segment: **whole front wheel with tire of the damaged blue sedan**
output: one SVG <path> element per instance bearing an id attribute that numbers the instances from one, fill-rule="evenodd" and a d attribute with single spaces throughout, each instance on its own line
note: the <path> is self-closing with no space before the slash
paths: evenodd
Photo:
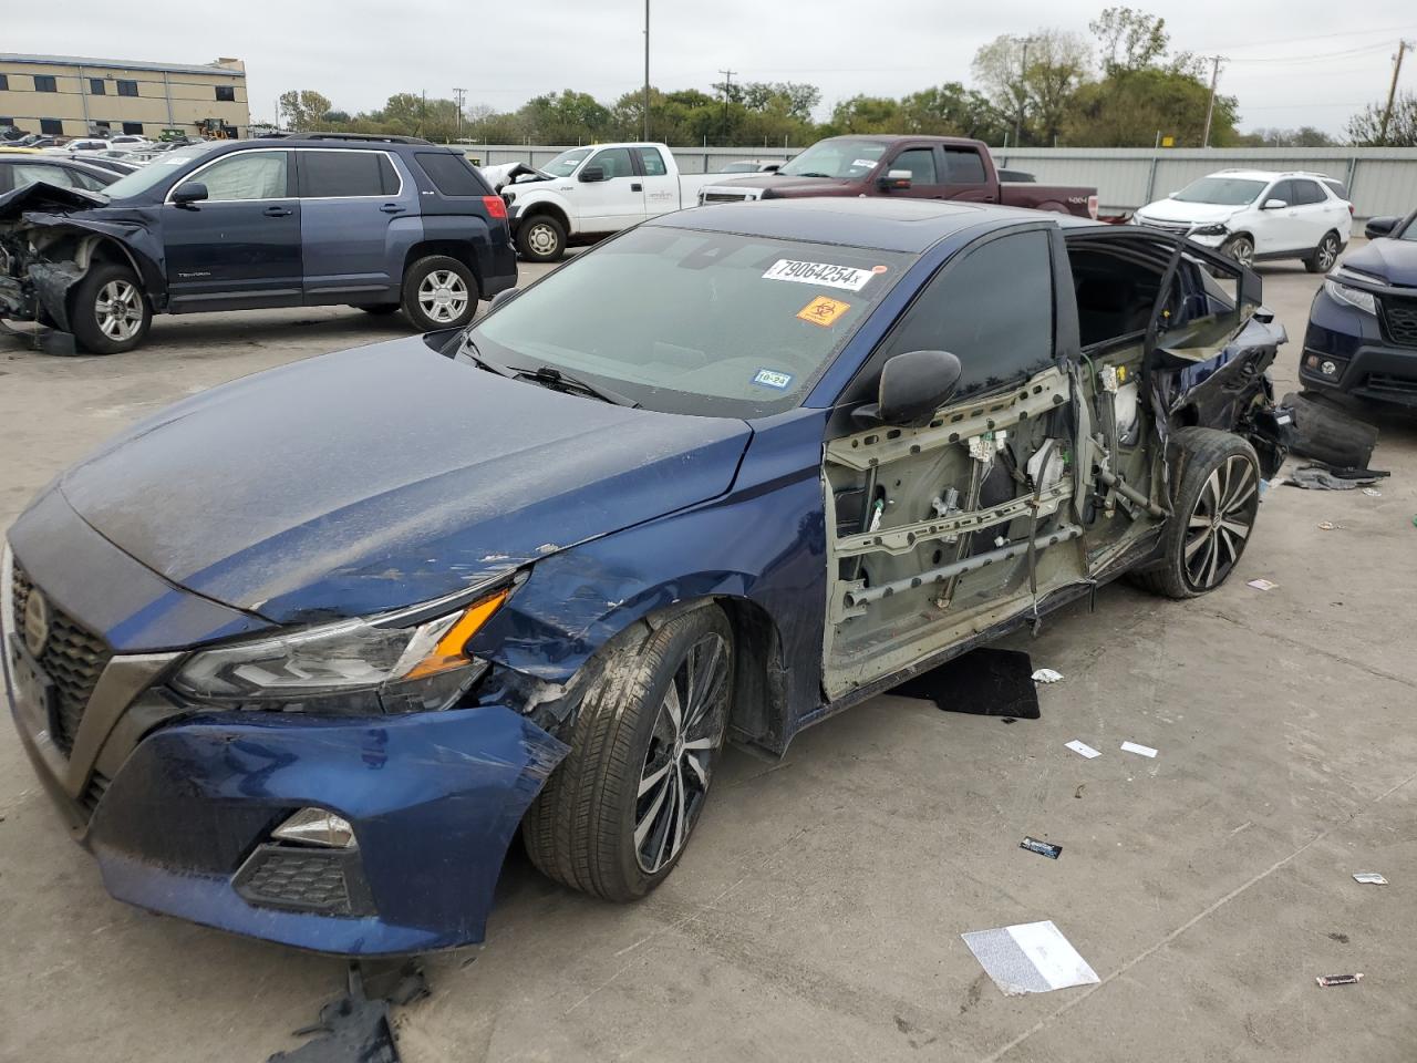
<path id="1" fill-rule="evenodd" d="M 717 605 L 612 651 L 581 702 L 571 751 L 523 821 L 531 862 L 611 901 L 638 900 L 663 882 L 707 799 L 733 679 L 733 629 Z"/>

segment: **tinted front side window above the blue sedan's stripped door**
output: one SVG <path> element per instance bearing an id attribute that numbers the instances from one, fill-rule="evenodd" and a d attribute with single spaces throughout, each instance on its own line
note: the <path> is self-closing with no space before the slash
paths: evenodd
<path id="1" fill-rule="evenodd" d="M 1053 262 L 1047 232 L 989 240 L 941 269 L 896 323 L 877 360 L 948 350 L 959 397 L 1024 380 L 1053 361 Z"/>

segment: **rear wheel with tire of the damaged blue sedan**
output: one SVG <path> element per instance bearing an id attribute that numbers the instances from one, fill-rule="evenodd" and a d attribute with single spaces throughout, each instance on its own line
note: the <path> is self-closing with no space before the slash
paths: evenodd
<path id="1" fill-rule="evenodd" d="M 1180 476 L 1161 557 L 1134 583 L 1168 598 L 1196 598 L 1226 581 L 1254 533 L 1260 459 L 1234 432 L 1182 428 L 1175 439 Z"/>

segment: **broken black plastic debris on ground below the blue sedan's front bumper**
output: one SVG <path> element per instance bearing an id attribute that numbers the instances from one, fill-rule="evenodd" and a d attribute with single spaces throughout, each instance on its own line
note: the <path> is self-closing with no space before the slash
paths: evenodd
<path id="1" fill-rule="evenodd" d="M 295 1032 L 298 1037 L 323 1036 L 290 1052 L 276 1052 L 266 1063 L 400 1063 L 390 1005 L 427 996 L 428 982 L 412 961 L 395 971 L 371 975 L 370 982 L 376 989 L 388 984 L 388 989 L 370 996 L 359 962 L 351 962 L 349 992 L 320 1008 L 320 1019 L 313 1026 Z"/>

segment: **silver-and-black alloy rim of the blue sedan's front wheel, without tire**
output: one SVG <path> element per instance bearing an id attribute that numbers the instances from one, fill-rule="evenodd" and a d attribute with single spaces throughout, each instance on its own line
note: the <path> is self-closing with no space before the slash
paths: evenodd
<path id="1" fill-rule="evenodd" d="M 646 874 L 684 848 L 708 792 L 728 704 L 728 648 L 706 635 L 674 670 L 650 734 L 635 801 L 635 859 Z"/>

